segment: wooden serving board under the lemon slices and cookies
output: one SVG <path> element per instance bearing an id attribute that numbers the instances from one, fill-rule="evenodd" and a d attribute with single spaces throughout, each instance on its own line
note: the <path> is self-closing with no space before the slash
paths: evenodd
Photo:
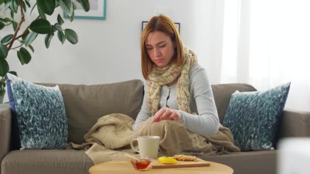
<path id="1" fill-rule="evenodd" d="M 174 167 L 201 167 L 210 166 L 210 162 L 197 158 L 196 161 L 177 161 L 176 164 L 163 164 L 157 159 L 152 161 L 152 168 L 174 168 Z"/>

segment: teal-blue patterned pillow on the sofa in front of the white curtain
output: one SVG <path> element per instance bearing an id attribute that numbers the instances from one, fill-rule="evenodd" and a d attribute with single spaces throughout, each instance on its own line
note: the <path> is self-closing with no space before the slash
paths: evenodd
<path id="1" fill-rule="evenodd" d="M 264 92 L 236 91 L 223 120 L 241 151 L 272 150 L 291 82 Z"/>

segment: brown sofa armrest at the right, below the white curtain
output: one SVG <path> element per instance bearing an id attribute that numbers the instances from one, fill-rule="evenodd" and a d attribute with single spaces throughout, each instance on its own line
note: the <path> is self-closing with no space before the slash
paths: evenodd
<path id="1" fill-rule="evenodd" d="M 280 138 L 310 137 L 310 111 L 285 110 L 279 130 Z"/>

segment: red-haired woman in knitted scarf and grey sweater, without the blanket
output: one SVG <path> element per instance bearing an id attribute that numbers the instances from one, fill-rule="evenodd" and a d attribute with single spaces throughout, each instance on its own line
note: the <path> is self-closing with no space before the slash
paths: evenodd
<path id="1" fill-rule="evenodd" d="M 146 93 L 133 130 L 153 117 L 153 122 L 179 122 L 198 135 L 217 133 L 219 118 L 208 76 L 168 17 L 154 16 L 145 26 L 141 65 Z"/>

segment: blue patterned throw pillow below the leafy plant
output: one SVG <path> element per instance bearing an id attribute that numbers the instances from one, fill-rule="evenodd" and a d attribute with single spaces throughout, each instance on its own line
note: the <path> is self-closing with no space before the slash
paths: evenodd
<path id="1" fill-rule="evenodd" d="M 7 88 L 21 149 L 64 149 L 68 123 L 58 85 L 36 85 L 8 73 Z"/>

